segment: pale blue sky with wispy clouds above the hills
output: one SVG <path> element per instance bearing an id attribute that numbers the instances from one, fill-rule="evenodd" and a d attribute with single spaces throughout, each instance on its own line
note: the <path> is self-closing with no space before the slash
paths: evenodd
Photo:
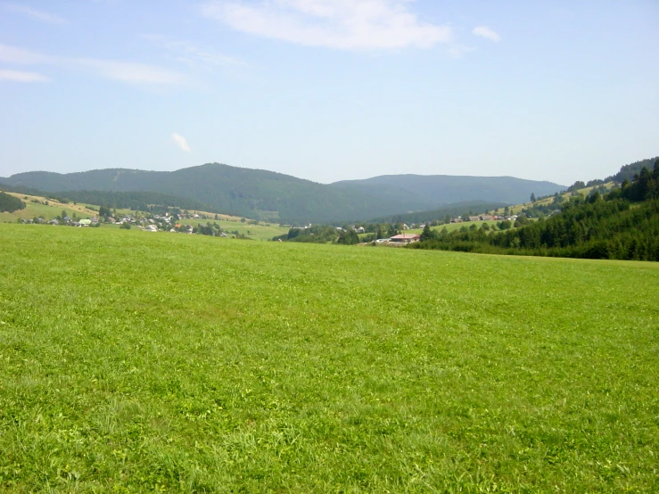
<path id="1" fill-rule="evenodd" d="M 571 185 L 659 155 L 656 0 L 0 0 L 0 177 Z"/>

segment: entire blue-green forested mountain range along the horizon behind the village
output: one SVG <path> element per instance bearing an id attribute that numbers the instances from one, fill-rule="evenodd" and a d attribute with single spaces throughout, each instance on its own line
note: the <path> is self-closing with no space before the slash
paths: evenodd
<path id="1" fill-rule="evenodd" d="M 219 163 L 169 172 L 96 169 L 60 174 L 31 171 L 0 177 L 0 184 L 70 199 L 75 199 L 80 191 L 168 194 L 194 200 L 210 211 L 284 223 L 370 219 L 433 210 L 454 202 L 515 204 L 528 201 L 531 193 L 541 196 L 566 188 L 515 177 L 446 175 L 388 175 L 325 185 L 268 170 Z"/>

